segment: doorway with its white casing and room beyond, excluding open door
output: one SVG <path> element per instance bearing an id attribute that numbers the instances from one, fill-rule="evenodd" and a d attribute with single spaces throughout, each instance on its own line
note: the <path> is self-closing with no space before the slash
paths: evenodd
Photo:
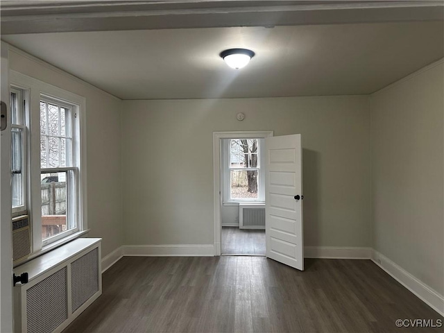
<path id="1" fill-rule="evenodd" d="M 216 132 L 214 254 L 266 255 L 264 138 L 273 131 Z"/>

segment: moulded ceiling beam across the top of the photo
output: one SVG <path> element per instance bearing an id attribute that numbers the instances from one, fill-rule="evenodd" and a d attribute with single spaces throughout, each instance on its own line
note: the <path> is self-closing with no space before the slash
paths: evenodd
<path id="1" fill-rule="evenodd" d="M 443 1 L 1 1 L 1 35 L 444 20 Z"/>

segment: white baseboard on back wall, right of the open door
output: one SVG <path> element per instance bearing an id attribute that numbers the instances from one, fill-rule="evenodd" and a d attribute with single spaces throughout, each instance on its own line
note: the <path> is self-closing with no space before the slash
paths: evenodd
<path id="1" fill-rule="evenodd" d="M 371 248 L 345 248 L 339 246 L 305 246 L 305 258 L 370 259 Z"/>

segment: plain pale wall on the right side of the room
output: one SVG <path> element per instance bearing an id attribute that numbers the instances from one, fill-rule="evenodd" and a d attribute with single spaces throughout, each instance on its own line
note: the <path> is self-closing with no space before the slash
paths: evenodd
<path id="1" fill-rule="evenodd" d="M 443 62 L 371 96 L 373 247 L 444 294 Z"/>

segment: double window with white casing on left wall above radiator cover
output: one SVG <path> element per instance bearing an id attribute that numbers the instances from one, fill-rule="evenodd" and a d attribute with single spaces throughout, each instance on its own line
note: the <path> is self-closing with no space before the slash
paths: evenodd
<path id="1" fill-rule="evenodd" d="M 16 71 L 10 77 L 12 212 L 31 221 L 33 257 L 87 228 L 85 99 Z"/>

